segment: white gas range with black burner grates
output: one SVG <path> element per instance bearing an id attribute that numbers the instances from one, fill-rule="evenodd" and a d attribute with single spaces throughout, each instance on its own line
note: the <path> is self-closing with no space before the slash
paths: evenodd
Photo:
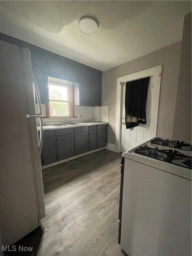
<path id="1" fill-rule="evenodd" d="M 122 154 L 119 243 L 129 256 L 191 255 L 191 173 L 189 143 L 153 138 Z"/>

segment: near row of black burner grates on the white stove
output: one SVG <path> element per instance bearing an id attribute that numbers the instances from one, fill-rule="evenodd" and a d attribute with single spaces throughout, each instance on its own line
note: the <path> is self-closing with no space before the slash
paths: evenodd
<path id="1" fill-rule="evenodd" d="M 145 144 L 135 149 L 134 153 L 191 169 L 191 156 L 176 150 L 173 152 L 172 149 L 150 148 Z"/>

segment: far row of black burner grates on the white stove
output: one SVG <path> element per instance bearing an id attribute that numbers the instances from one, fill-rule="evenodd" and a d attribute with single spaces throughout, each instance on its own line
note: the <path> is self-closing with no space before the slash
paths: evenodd
<path id="1" fill-rule="evenodd" d="M 151 143 L 156 145 L 162 145 L 162 146 L 172 147 L 172 148 L 180 148 L 180 149 L 191 151 L 191 144 L 185 141 L 181 141 L 181 142 L 179 140 L 170 141 L 169 139 L 164 140 L 158 137 L 151 140 Z"/>

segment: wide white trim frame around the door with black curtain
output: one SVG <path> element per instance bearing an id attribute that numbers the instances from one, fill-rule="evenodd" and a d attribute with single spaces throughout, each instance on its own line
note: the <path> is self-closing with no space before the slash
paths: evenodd
<path id="1" fill-rule="evenodd" d="M 161 84 L 162 65 L 145 69 L 136 73 L 117 78 L 117 98 L 116 98 L 116 129 L 115 129 L 115 151 L 121 150 L 121 106 L 122 106 L 122 83 L 136 80 L 148 76 L 153 76 L 153 90 L 151 95 L 151 123 L 149 137 L 153 138 L 157 133 L 157 120 L 159 109 L 159 96 Z"/>

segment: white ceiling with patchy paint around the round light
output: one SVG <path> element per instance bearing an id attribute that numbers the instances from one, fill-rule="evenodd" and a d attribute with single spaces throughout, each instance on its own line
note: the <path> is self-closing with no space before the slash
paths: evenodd
<path id="1" fill-rule="evenodd" d="M 0 32 L 99 70 L 182 40 L 191 1 L 0 1 Z M 82 16 L 99 22 L 94 34 Z"/>

